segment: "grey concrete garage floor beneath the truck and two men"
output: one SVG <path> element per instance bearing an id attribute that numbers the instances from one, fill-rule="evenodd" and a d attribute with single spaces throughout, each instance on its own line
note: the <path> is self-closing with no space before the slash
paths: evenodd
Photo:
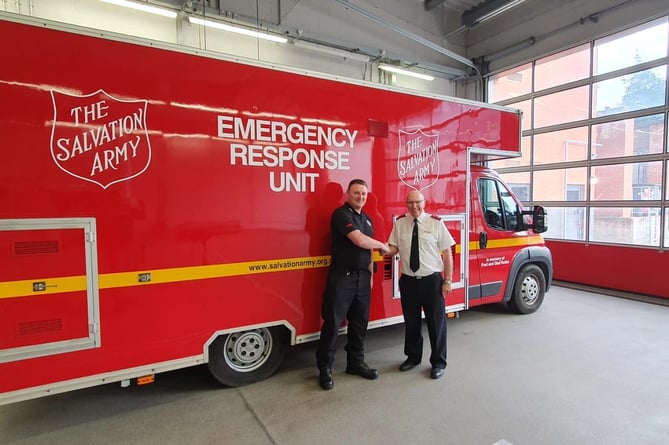
<path id="1" fill-rule="evenodd" d="M 197 367 L 0 406 L 0 443 L 669 443 L 669 307 L 554 286 L 532 315 L 471 310 L 449 321 L 441 380 L 426 359 L 400 373 L 402 341 L 403 325 L 369 332 L 375 381 L 345 374 L 340 348 L 331 391 L 310 343 L 247 387 Z"/>

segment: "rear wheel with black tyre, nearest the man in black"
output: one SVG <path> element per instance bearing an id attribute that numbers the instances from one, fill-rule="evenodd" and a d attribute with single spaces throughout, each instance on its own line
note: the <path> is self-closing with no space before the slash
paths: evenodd
<path id="1" fill-rule="evenodd" d="M 259 382 L 279 368 L 286 344 L 280 326 L 222 335 L 209 346 L 209 372 L 225 386 Z"/>

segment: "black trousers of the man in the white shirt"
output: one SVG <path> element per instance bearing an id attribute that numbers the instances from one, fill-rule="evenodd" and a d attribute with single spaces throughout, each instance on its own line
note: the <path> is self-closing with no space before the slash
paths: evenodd
<path id="1" fill-rule="evenodd" d="M 441 286 L 444 277 L 435 273 L 421 279 L 402 275 L 400 297 L 404 315 L 404 353 L 414 363 L 423 358 L 421 309 L 430 337 L 430 363 L 435 368 L 446 367 L 446 311 Z"/>

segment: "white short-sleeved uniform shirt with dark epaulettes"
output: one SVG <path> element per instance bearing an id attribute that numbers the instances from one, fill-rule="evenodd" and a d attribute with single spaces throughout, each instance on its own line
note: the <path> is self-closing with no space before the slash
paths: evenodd
<path id="1" fill-rule="evenodd" d="M 450 249 L 455 240 L 446 230 L 441 220 L 423 213 L 418 217 L 418 252 L 420 268 L 414 273 L 409 268 L 411 257 L 411 235 L 413 232 L 413 217 L 404 215 L 393 224 L 388 244 L 399 249 L 400 265 L 403 275 L 424 277 L 444 270 L 441 252 Z"/>

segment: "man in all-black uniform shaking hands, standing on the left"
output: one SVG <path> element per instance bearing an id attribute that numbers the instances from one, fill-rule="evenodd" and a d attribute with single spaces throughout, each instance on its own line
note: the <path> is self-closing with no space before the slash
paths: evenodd
<path id="1" fill-rule="evenodd" d="M 336 352 L 337 333 L 344 318 L 348 320 L 346 372 L 373 380 L 379 371 L 364 361 L 364 341 L 369 321 L 369 300 L 372 291 L 372 252 L 389 251 L 387 244 L 377 241 L 372 220 L 362 211 L 367 201 L 367 184 L 354 179 L 346 190 L 346 202 L 332 213 L 332 264 L 323 294 L 321 316 L 323 327 L 316 350 L 319 384 L 332 389 L 332 363 Z"/>

